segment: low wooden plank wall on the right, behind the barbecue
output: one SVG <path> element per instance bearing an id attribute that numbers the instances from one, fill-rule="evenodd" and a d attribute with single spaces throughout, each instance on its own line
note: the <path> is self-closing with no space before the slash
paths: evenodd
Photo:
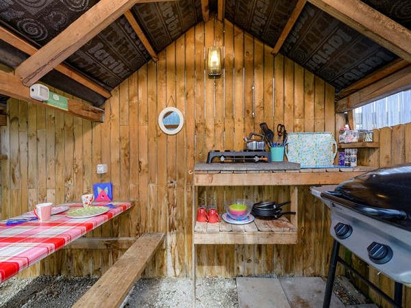
<path id="1" fill-rule="evenodd" d="M 374 129 L 374 141 L 379 141 L 379 149 L 359 149 L 358 163 L 362 166 L 386 167 L 395 164 L 411 162 L 411 123 L 400 124 L 393 127 L 383 127 Z M 394 282 L 384 274 L 379 274 L 377 270 L 367 267 L 364 262 L 355 255 L 346 254 L 347 260 L 351 261 L 354 268 L 369 277 L 370 281 L 380 287 L 390 296 L 394 296 Z M 379 307 L 391 307 L 382 300 L 373 290 L 361 283 L 359 279 L 353 277 L 356 285 L 364 294 L 369 297 Z M 403 307 L 411 307 L 411 288 L 404 287 Z"/>

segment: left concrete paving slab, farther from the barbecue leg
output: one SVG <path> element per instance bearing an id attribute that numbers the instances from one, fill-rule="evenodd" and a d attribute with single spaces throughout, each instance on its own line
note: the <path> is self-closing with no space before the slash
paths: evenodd
<path id="1" fill-rule="evenodd" d="M 237 277 L 236 282 L 240 308 L 291 307 L 276 278 Z"/>

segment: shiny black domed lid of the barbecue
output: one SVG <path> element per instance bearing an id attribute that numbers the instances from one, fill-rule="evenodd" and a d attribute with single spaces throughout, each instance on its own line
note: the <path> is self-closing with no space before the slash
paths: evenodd
<path id="1" fill-rule="evenodd" d="M 399 209 L 411 214 L 411 164 L 379 168 L 340 183 L 335 188 L 354 203 Z"/>

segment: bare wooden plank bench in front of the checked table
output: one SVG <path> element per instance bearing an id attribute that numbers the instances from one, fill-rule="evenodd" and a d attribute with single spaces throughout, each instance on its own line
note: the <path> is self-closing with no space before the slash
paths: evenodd
<path id="1" fill-rule="evenodd" d="M 144 233 L 73 307 L 119 307 L 164 241 L 164 233 Z"/>

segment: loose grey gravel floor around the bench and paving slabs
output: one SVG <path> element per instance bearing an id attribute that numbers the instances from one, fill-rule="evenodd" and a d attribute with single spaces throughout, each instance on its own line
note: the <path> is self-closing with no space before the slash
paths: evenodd
<path id="1" fill-rule="evenodd" d="M 97 279 L 13 277 L 0 284 L 0 307 L 69 308 Z M 345 305 L 358 305 L 355 294 L 350 294 L 338 279 L 334 283 L 334 293 Z M 122 305 L 126 307 L 192 307 L 191 279 L 140 279 L 127 295 Z M 238 307 L 236 279 L 197 279 L 197 307 Z"/>

